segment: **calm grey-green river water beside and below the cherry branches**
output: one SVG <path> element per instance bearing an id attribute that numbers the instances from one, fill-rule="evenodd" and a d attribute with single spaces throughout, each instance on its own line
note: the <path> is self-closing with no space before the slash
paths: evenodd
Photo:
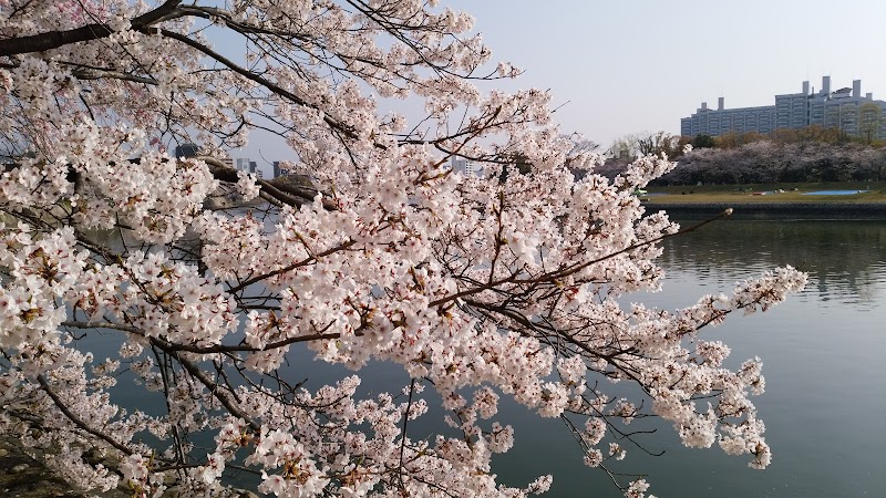
<path id="1" fill-rule="evenodd" d="M 705 332 L 732 347 L 728 366 L 763 360 L 766 392 L 754 403 L 773 460 L 753 470 L 715 447 L 682 448 L 659 421 L 642 440 L 664 456 L 629 447 L 617 469 L 648 473 L 649 492 L 660 498 L 886 496 L 886 222 L 727 220 L 664 248 L 662 292 L 635 301 L 672 309 L 775 266 L 808 272 L 806 289 L 787 302 Z M 559 424 L 519 418 L 503 478 L 553 473 L 553 496 L 621 496 L 581 466 Z"/>

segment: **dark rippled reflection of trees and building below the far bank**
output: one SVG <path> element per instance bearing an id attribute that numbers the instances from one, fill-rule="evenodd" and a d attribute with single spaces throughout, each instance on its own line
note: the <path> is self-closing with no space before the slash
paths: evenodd
<path id="1" fill-rule="evenodd" d="M 690 226 L 691 222 L 683 224 Z M 800 299 L 869 311 L 886 281 L 886 222 L 727 220 L 664 241 L 660 263 L 698 280 L 743 280 L 792 264 L 810 274 Z"/>

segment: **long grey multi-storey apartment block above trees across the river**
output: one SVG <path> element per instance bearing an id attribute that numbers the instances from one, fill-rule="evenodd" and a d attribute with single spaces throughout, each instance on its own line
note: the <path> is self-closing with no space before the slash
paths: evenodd
<path id="1" fill-rule="evenodd" d="M 864 104 L 879 107 L 874 114 L 864 112 Z M 870 108 L 868 106 L 868 108 Z M 775 95 L 775 105 L 759 107 L 725 108 L 723 97 L 718 100 L 717 108 L 709 108 L 707 102 L 689 117 L 680 120 L 680 134 L 683 136 L 720 136 L 728 133 L 771 133 L 783 128 L 804 128 L 818 125 L 838 128 L 847 135 L 858 136 L 865 128 L 873 131 L 874 137 L 886 138 L 886 102 L 875 101 L 873 94 L 862 95 L 862 80 L 853 81 L 852 87 L 831 90 L 831 76 L 822 77 L 822 90 L 810 91 L 810 82 L 804 81 L 800 93 Z"/>

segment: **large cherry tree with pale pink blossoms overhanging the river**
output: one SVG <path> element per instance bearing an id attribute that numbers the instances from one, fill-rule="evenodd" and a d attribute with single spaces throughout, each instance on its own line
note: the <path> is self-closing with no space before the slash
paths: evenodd
<path id="1" fill-rule="evenodd" d="M 560 417 L 602 471 L 647 412 L 687 446 L 769 464 L 750 400 L 761 362 L 725 369 L 729 347 L 700 333 L 805 277 L 774 270 L 676 311 L 628 304 L 660 287 L 657 242 L 679 230 L 631 193 L 672 164 L 641 157 L 608 180 L 546 92 L 481 91 L 519 70 L 492 65 L 467 14 L 0 0 L 0 427 L 72 484 L 215 496 L 236 470 L 285 497 L 543 492 L 549 476 L 496 481 L 517 436 L 503 396 Z M 424 114 L 381 111 L 393 98 Z M 251 132 L 285 139 L 317 188 L 226 167 Z M 183 142 L 203 155 L 161 146 Z M 517 156 L 530 169 L 503 175 Z M 261 201 L 210 208 L 231 193 Z M 298 382 L 282 372 L 303 351 L 353 372 Z M 370 363 L 402 384 L 361 392 Z M 121 406 L 133 390 L 144 403 Z M 415 429 L 439 411 L 437 434 Z M 614 479 L 631 497 L 649 486 Z"/>

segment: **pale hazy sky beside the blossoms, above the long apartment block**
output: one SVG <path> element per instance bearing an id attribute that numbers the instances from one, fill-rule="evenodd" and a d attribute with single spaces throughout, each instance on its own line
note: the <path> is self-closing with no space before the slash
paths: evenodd
<path id="1" fill-rule="evenodd" d="M 820 90 L 823 75 L 832 90 L 862 80 L 863 93 L 886 100 L 883 0 L 440 3 L 474 17 L 493 64 L 525 70 L 506 89 L 549 90 L 562 131 L 604 148 L 629 134 L 679 134 L 701 102 L 773 105 L 803 81 Z M 257 157 L 259 147 L 245 152 Z"/>

